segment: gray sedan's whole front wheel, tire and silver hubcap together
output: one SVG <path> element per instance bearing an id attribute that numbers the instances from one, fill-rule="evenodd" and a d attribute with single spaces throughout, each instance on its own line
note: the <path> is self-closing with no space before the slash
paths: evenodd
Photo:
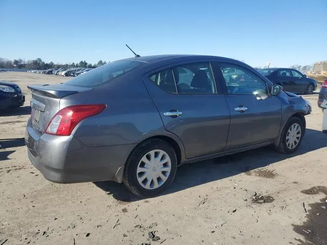
<path id="1" fill-rule="evenodd" d="M 277 151 L 286 154 L 296 152 L 301 144 L 305 130 L 303 122 L 299 118 L 291 117 L 282 132 Z"/>

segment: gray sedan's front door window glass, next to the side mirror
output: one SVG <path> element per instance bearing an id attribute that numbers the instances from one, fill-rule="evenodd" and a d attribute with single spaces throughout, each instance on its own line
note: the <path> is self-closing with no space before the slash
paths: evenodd
<path id="1" fill-rule="evenodd" d="M 228 94 L 269 94 L 264 80 L 234 64 L 220 65 Z"/>

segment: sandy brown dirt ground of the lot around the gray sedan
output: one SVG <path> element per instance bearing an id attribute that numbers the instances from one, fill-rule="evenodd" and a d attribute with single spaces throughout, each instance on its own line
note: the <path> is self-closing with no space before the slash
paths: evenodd
<path id="1" fill-rule="evenodd" d="M 4 139 L 24 137 L 26 85 L 67 78 L 3 72 L 0 80 L 17 83 L 27 100 L 0 114 Z M 184 165 L 153 199 L 113 182 L 51 183 L 30 164 L 24 140 L 2 140 L 0 244 L 327 244 L 327 135 L 317 94 L 305 97 L 313 112 L 296 154 L 264 148 Z"/>

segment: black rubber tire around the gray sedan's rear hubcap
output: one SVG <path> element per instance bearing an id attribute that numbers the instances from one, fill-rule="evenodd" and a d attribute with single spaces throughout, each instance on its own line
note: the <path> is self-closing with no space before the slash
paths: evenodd
<path id="1" fill-rule="evenodd" d="M 156 154 L 157 157 L 159 156 L 158 155 L 159 151 L 161 151 L 161 153 L 164 152 L 166 154 L 164 155 L 166 157 L 166 160 L 168 160 L 167 163 L 165 163 L 162 166 L 159 166 L 158 162 L 154 163 L 156 164 L 155 166 L 148 165 L 145 163 L 145 161 L 151 163 L 151 159 L 157 159 L 155 156 Z M 151 155 L 151 153 L 153 152 L 154 155 Z M 164 155 L 162 157 L 164 157 Z M 143 161 L 143 159 L 145 161 Z M 160 171 L 160 169 L 162 168 L 168 169 L 169 167 L 170 167 L 170 173 L 169 171 Z M 137 169 L 149 169 L 149 170 L 145 172 L 140 171 L 137 174 Z M 132 151 L 132 153 L 128 157 L 124 169 L 123 183 L 125 184 L 127 189 L 129 189 L 132 193 L 134 193 L 138 197 L 141 198 L 155 197 L 156 195 L 165 191 L 168 188 L 168 186 L 173 182 L 176 175 L 176 170 L 177 170 L 177 157 L 172 146 L 164 140 L 150 139 L 136 146 L 136 148 Z M 160 178 L 159 177 L 160 173 L 161 176 L 165 178 L 168 177 L 168 178 L 166 180 L 164 180 L 165 178 Z M 147 174 L 148 176 L 150 175 L 150 178 L 144 178 L 144 176 L 146 176 Z M 151 178 L 151 175 L 155 175 L 156 176 L 154 177 L 155 179 Z M 144 179 L 143 182 L 142 179 Z M 156 183 L 154 180 L 156 180 Z M 158 187 L 155 187 L 155 184 L 157 184 Z"/>

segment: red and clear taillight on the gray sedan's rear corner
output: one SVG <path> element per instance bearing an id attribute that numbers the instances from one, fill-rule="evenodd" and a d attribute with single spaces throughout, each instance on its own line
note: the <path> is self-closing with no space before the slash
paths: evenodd
<path id="1" fill-rule="evenodd" d="M 77 105 L 68 106 L 58 111 L 51 119 L 45 133 L 52 135 L 68 136 L 83 119 L 98 115 L 106 105 Z"/>

